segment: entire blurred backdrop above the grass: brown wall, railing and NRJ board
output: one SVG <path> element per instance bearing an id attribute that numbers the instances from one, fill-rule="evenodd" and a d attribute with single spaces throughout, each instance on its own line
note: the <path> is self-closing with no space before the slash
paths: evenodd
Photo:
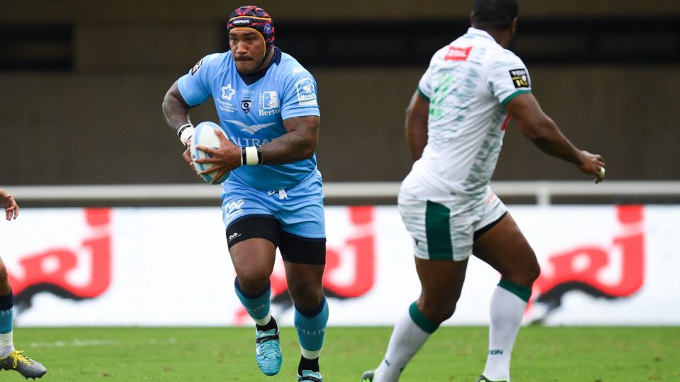
<path id="1" fill-rule="evenodd" d="M 520 3 L 511 48 L 533 93 L 607 163 L 594 185 L 509 127 L 492 186 L 543 270 L 526 322 L 680 325 L 680 1 Z M 472 0 L 256 4 L 317 80 L 330 325 L 391 325 L 419 292 L 395 207 L 411 167 L 404 112 L 433 52 L 467 30 Z M 20 325 L 250 324 L 232 292 L 220 187 L 186 166 L 161 109 L 176 79 L 228 50 L 241 5 L 0 0 L 0 187 L 23 207 L 0 222 L 16 239 L 0 256 Z M 214 121 L 214 108 L 193 109 L 193 122 Z M 468 275 L 449 323 L 486 325 L 498 274 L 471 260 Z M 191 288 L 176 291 L 180 277 Z M 280 263 L 272 287 L 292 325 Z M 382 316 L 364 313 L 376 306 Z"/>

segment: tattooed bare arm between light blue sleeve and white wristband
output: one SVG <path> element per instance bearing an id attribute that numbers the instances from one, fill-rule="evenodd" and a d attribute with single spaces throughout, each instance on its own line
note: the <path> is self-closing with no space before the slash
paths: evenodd
<path id="1" fill-rule="evenodd" d="M 315 115 L 283 120 L 286 134 L 262 145 L 263 164 L 282 164 L 312 158 L 319 141 L 319 121 Z"/>

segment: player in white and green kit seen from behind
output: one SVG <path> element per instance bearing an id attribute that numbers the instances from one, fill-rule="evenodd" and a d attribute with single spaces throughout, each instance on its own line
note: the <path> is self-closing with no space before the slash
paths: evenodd
<path id="1" fill-rule="evenodd" d="M 510 118 L 546 154 L 574 163 L 596 183 L 604 178 L 603 158 L 562 135 L 531 94 L 526 66 L 507 50 L 518 13 L 517 0 L 475 0 L 472 28 L 434 54 L 409 103 L 407 140 L 415 163 L 398 204 L 422 289 L 397 319 L 380 366 L 365 372 L 363 382 L 397 381 L 453 316 L 470 255 L 501 274 L 489 310 L 487 362 L 477 381 L 510 381 L 512 348 L 540 273 L 531 246 L 489 187 Z"/>

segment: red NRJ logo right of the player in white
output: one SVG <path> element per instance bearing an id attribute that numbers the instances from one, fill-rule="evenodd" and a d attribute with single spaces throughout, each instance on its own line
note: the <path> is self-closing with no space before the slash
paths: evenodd
<path id="1" fill-rule="evenodd" d="M 533 303 L 546 308 L 536 320 L 548 318 L 570 291 L 604 299 L 621 299 L 640 291 L 645 282 L 643 213 L 644 207 L 638 205 L 617 207 L 621 229 L 611 245 L 584 244 L 548 257 L 533 284 Z M 607 272 L 614 277 L 604 279 Z"/>

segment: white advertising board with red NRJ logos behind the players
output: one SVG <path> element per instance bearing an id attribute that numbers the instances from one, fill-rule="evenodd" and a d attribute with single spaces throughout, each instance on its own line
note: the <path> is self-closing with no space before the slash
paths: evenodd
<path id="1" fill-rule="evenodd" d="M 680 325 L 679 205 L 509 209 L 542 269 L 524 323 Z M 419 295 L 396 208 L 326 216 L 329 325 L 392 325 Z M 217 208 L 22 209 L 1 228 L 18 326 L 250 325 Z M 470 260 L 445 325 L 487 325 L 498 281 Z M 292 325 L 280 259 L 271 285 L 274 315 Z"/>

